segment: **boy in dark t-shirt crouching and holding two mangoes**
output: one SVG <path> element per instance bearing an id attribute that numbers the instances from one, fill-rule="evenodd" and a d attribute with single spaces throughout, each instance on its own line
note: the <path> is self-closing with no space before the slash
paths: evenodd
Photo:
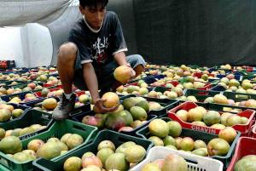
<path id="1" fill-rule="evenodd" d="M 125 38 L 117 14 L 107 12 L 108 0 L 79 0 L 83 18 L 69 32 L 68 42 L 61 45 L 57 69 L 64 94 L 55 108 L 53 117 L 66 119 L 75 104 L 72 84 L 79 89 L 88 89 L 96 111 L 106 113 L 118 106 L 106 108 L 101 94 L 116 88 L 113 71 L 118 66 L 130 66 L 131 77 L 144 70 L 145 61 L 138 55 L 125 57 Z"/>

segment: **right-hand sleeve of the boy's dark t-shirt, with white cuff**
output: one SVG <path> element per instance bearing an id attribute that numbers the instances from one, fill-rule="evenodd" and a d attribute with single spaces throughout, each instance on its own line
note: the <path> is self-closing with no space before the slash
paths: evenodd
<path id="1" fill-rule="evenodd" d="M 125 37 L 117 14 L 113 15 L 113 55 L 127 51 Z"/>

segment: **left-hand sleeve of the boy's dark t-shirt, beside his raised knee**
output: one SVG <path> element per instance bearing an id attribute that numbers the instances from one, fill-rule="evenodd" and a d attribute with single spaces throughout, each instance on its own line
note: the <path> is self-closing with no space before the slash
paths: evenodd
<path id="1" fill-rule="evenodd" d="M 81 64 L 90 63 L 92 60 L 90 59 L 90 53 L 87 48 L 86 43 L 79 38 L 79 34 L 76 31 L 70 31 L 68 34 L 68 42 L 75 43 L 79 49 L 79 57 L 81 60 Z"/>

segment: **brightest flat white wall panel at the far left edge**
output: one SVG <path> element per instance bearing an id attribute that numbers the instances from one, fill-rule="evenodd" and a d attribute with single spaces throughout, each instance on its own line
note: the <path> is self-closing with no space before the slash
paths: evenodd
<path id="1" fill-rule="evenodd" d="M 20 27 L 0 28 L 0 60 L 15 60 L 17 67 L 25 66 Z"/>

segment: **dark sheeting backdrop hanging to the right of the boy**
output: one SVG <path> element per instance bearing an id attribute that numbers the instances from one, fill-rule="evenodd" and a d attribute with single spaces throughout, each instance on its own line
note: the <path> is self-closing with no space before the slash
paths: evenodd
<path id="1" fill-rule="evenodd" d="M 148 61 L 256 65 L 255 0 L 134 0 L 134 10 Z"/>

